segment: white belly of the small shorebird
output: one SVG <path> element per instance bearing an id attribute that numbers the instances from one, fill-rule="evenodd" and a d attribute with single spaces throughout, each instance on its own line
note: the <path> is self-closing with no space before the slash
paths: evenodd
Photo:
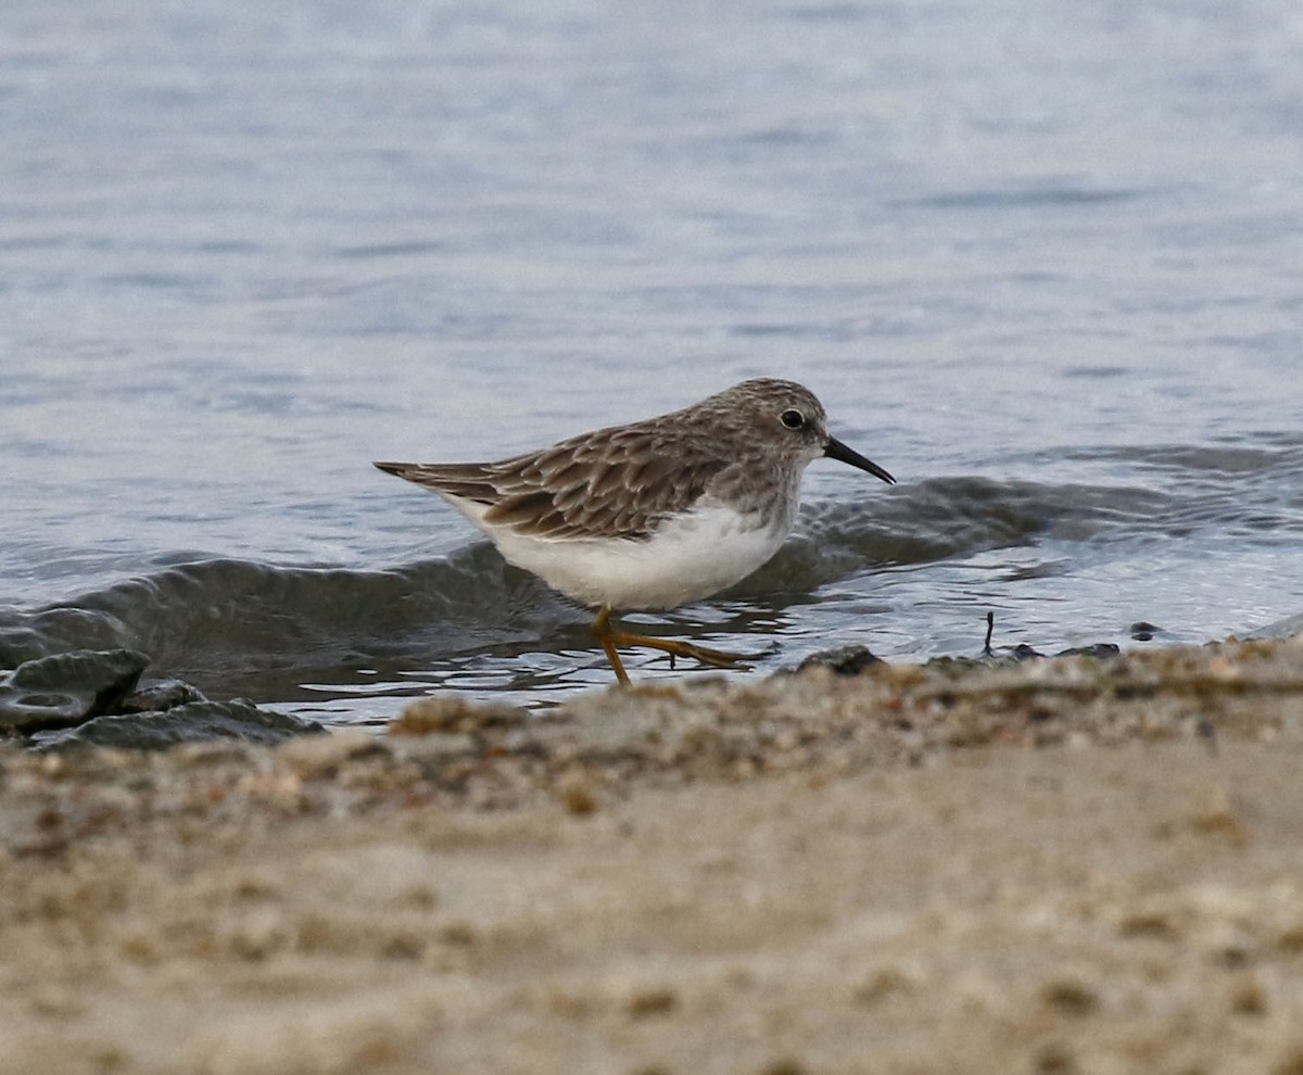
<path id="1" fill-rule="evenodd" d="M 562 541 L 506 529 L 489 536 L 508 563 L 585 605 L 672 609 L 741 581 L 778 551 L 790 520 L 762 529 L 754 523 L 714 504 L 665 523 L 642 541 Z"/>

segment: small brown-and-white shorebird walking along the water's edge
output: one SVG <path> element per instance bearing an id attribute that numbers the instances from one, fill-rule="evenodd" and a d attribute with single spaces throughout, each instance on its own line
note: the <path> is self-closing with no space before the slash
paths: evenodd
<path id="1" fill-rule="evenodd" d="M 701 403 L 584 433 L 500 463 L 377 463 L 433 489 L 508 563 L 597 609 L 593 636 L 616 679 L 616 646 L 730 667 L 743 654 L 616 629 L 625 609 L 674 609 L 764 564 L 791 533 L 801 473 L 820 456 L 885 482 L 886 470 L 827 431 L 801 384 L 744 380 Z"/>

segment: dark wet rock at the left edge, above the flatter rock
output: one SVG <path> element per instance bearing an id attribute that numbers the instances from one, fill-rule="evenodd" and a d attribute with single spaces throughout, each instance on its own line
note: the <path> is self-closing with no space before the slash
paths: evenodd
<path id="1" fill-rule="evenodd" d="M 149 657 L 130 649 L 26 661 L 0 676 L 0 731 L 66 727 L 115 713 L 149 663 Z"/>

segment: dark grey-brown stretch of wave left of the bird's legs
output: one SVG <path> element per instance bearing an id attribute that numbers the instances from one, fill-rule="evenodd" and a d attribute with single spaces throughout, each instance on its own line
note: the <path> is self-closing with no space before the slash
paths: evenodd
<path id="1" fill-rule="evenodd" d="M 31 612 L 0 614 L 0 665 L 133 649 L 151 672 L 214 679 L 455 653 L 519 631 L 546 588 L 486 543 L 388 571 L 203 560 Z"/>

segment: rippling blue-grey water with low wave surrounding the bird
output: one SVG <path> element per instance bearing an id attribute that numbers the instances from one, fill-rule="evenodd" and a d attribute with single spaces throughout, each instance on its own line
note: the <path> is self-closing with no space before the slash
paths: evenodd
<path id="1" fill-rule="evenodd" d="M 607 683 L 369 460 L 760 374 L 900 485 L 816 464 L 769 567 L 641 629 L 760 674 L 1303 612 L 1295 0 L 29 0 L 0 109 L 0 665 L 336 723 Z"/>

